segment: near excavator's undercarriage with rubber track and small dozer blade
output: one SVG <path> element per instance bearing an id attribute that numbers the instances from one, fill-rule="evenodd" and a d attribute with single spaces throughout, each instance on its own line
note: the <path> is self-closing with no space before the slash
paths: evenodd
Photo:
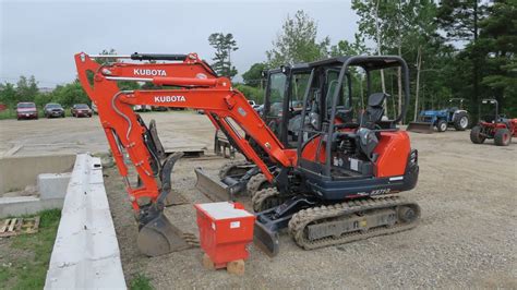
<path id="1" fill-rule="evenodd" d="M 420 206 L 397 195 L 326 205 L 310 196 L 297 196 L 260 213 L 257 219 L 261 222 L 255 226 L 255 243 L 275 256 L 282 228 L 288 228 L 299 246 L 313 250 L 412 229 L 420 220 Z"/>

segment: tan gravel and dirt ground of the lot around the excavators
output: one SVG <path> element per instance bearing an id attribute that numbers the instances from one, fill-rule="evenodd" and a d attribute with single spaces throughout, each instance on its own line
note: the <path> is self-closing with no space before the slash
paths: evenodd
<path id="1" fill-rule="evenodd" d="M 209 121 L 190 112 L 146 113 L 155 118 L 164 143 L 188 138 L 212 148 Z M 51 150 L 106 152 L 97 120 L 0 121 L 0 149 L 14 155 Z M 16 133 L 17 132 L 17 133 Z M 20 132 L 31 132 L 20 134 Z M 56 136 L 50 136 L 56 133 Z M 201 265 L 193 249 L 148 258 L 136 249 L 136 223 L 115 168 L 105 169 L 125 277 L 139 273 L 167 288 L 517 288 L 517 140 L 508 147 L 491 141 L 474 145 L 468 132 L 432 135 L 410 133 L 419 149 L 417 188 L 404 196 L 422 208 L 420 225 L 409 231 L 314 251 L 298 247 L 287 235 L 274 258 L 253 244 L 243 277 Z M 74 144 L 75 142 L 75 144 Z M 57 145 L 56 145 L 56 144 Z M 72 145 L 60 145 L 60 144 Z M 55 144 L 55 145 L 51 145 Z M 213 176 L 228 159 L 181 159 L 173 171 L 173 190 L 189 204 L 166 209 L 169 219 L 197 233 L 194 203 L 208 200 L 195 190 L 195 167 Z M 244 200 L 244 203 L 249 201 Z"/>

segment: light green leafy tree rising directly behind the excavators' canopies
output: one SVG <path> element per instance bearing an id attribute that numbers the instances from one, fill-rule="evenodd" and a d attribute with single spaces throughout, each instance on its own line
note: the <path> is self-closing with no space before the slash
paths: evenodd
<path id="1" fill-rule="evenodd" d="M 330 39 L 317 41 L 317 24 L 303 10 L 293 17 L 287 16 L 281 33 L 273 41 L 273 49 L 266 51 L 272 68 L 282 64 L 315 61 L 328 56 Z"/>

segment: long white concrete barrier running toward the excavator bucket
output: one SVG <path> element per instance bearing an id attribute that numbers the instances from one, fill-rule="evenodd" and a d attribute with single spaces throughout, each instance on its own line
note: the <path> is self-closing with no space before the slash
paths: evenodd
<path id="1" fill-rule="evenodd" d="M 45 289 L 125 289 L 100 159 L 80 154 L 61 212 Z"/>

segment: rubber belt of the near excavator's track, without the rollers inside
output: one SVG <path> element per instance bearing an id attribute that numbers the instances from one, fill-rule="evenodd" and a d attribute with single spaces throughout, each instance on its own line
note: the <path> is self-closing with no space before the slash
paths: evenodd
<path id="1" fill-rule="evenodd" d="M 417 218 L 410 223 L 400 223 L 397 222 L 393 227 L 377 227 L 369 229 L 365 232 L 353 231 L 349 233 L 344 233 L 339 238 L 328 237 L 323 238 L 316 241 L 310 241 L 304 234 L 306 226 L 311 222 L 321 220 L 321 219 L 333 219 L 339 218 L 341 216 L 349 216 L 358 212 L 371 210 L 371 209 L 383 209 L 392 208 L 400 205 L 411 205 L 418 208 Z M 366 198 L 359 201 L 345 202 L 340 204 L 334 204 L 328 206 L 318 206 L 311 207 L 308 209 L 300 210 L 294 214 L 289 221 L 289 234 L 294 239 L 294 242 L 305 250 L 313 250 L 329 245 L 337 245 L 348 242 L 353 242 L 358 240 L 364 240 L 372 237 L 389 234 L 395 232 L 400 232 L 414 228 L 420 221 L 420 207 L 416 203 L 407 202 L 406 200 L 399 196 L 386 196 L 386 197 L 375 197 Z"/>

